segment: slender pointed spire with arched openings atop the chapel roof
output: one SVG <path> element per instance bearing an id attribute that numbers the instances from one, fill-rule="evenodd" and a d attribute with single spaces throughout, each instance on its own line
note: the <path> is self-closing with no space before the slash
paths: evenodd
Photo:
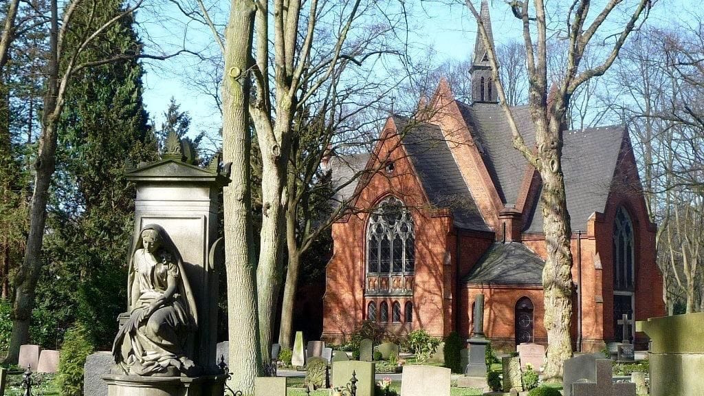
<path id="1" fill-rule="evenodd" d="M 489 16 L 489 2 L 487 0 L 482 0 L 479 19 L 482 20 L 491 46 L 496 48 L 494 45 L 494 33 L 491 32 L 491 17 Z M 496 84 L 491 78 L 491 63 L 489 63 L 489 55 L 486 53 L 484 40 L 482 40 L 482 33 L 479 32 L 478 22 L 477 39 L 474 42 L 474 58 L 472 59 L 470 73 L 472 73 L 472 101 L 498 103 L 498 99 L 496 99 Z"/>

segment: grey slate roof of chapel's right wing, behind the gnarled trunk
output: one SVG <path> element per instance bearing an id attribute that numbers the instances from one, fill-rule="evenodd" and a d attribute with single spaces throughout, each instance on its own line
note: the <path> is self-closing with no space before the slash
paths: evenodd
<path id="1" fill-rule="evenodd" d="M 563 135 L 562 172 L 572 230 L 584 230 L 594 211 L 604 211 L 623 143 L 623 125 L 572 130 Z M 543 216 L 537 204 L 524 232 L 542 233 Z"/>

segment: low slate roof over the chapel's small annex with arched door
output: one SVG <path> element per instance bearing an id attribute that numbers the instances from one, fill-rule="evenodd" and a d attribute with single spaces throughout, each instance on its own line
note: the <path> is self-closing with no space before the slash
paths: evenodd
<path id="1" fill-rule="evenodd" d="M 486 249 L 463 283 L 542 285 L 545 261 L 519 242 L 494 243 Z"/>

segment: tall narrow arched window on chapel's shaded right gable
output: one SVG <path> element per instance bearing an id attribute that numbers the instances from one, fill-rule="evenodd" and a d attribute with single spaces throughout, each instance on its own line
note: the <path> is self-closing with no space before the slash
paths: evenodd
<path id="1" fill-rule="evenodd" d="M 614 289 L 632 290 L 635 283 L 633 223 L 623 207 L 616 211 L 613 242 Z"/>

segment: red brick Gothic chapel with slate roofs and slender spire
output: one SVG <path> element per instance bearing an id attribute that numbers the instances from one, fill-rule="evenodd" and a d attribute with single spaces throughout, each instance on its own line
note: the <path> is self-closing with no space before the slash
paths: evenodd
<path id="1" fill-rule="evenodd" d="M 485 1 L 481 16 L 491 38 Z M 332 226 L 324 339 L 340 341 L 365 320 L 394 333 L 423 328 L 467 338 L 472 304 L 483 293 L 484 333 L 494 347 L 546 344 L 540 175 L 513 149 L 479 38 L 470 73 L 472 103 L 455 99 L 443 80 L 415 116 L 386 120 L 372 153 L 331 159 L 338 180 L 365 174 L 346 188 L 363 210 Z M 534 144 L 528 107 L 512 112 L 524 140 Z M 665 315 L 655 224 L 624 125 L 563 137 L 572 340 L 577 350 L 598 351 L 622 339 L 622 314 Z M 646 335 L 632 327 L 629 338 L 647 347 Z"/>

